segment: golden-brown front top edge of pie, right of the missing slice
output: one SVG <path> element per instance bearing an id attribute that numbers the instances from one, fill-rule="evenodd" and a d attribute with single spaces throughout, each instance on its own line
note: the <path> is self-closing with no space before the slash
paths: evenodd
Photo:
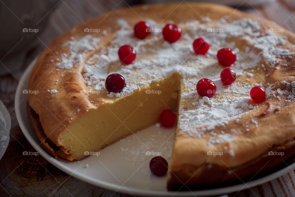
<path id="1" fill-rule="evenodd" d="M 199 168 L 207 162 L 233 169 L 259 158 L 273 146 L 287 143 L 294 137 L 295 111 L 292 107 L 285 108 L 282 106 L 280 110 L 277 110 L 277 106 L 278 102 L 272 101 L 271 104 L 265 102 L 261 107 L 243 115 L 239 123 L 233 120 L 226 126 L 215 128 L 215 131 L 226 131 L 226 128 L 235 129 L 236 131 L 239 130 L 239 133 L 235 134 L 237 139 L 231 142 L 220 143 L 216 146 L 207 146 L 206 138 L 195 140 L 185 136 L 178 136 L 174 144 L 173 155 L 169 166 L 171 171 L 178 171 L 188 163 L 194 164 L 195 168 Z M 251 119 L 259 125 L 256 126 L 251 122 Z M 229 125 L 230 127 L 228 127 Z M 195 145 L 194 143 L 196 141 L 199 144 Z M 225 150 L 225 147 L 233 149 L 234 156 L 230 155 L 230 152 Z M 208 151 L 220 151 L 223 155 L 213 157 L 212 155 L 207 155 Z M 191 158 L 191 152 L 194 152 L 195 156 L 198 157 Z M 191 177 L 191 174 L 187 174 L 187 180 L 189 177 Z"/>

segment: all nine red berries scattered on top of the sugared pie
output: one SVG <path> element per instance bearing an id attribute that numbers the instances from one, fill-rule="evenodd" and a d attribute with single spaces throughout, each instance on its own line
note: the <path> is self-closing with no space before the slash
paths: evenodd
<path id="1" fill-rule="evenodd" d="M 141 21 L 134 26 L 134 35 L 137 38 L 144 39 L 151 33 L 151 27 L 148 23 Z M 166 41 L 173 43 L 181 37 L 181 28 L 175 24 L 167 24 L 163 28 L 163 37 Z M 197 38 L 193 42 L 193 48 L 197 55 L 205 55 L 209 50 L 210 44 L 203 38 Z M 119 59 L 124 64 L 132 63 L 136 58 L 136 51 L 130 45 L 121 46 L 118 51 Z M 222 66 L 231 66 L 236 60 L 236 54 L 229 48 L 222 48 L 217 53 L 217 60 Z M 223 85 L 230 85 L 236 80 L 236 73 L 230 68 L 222 70 L 220 79 Z M 121 92 L 125 87 L 125 79 L 120 74 L 110 74 L 105 81 L 105 87 L 110 92 Z M 199 80 L 196 86 L 197 92 L 200 96 L 207 96 L 211 98 L 216 93 L 216 85 L 210 79 L 203 78 Z M 260 103 L 265 98 L 265 90 L 256 86 L 250 91 L 250 96 L 254 102 Z"/>

